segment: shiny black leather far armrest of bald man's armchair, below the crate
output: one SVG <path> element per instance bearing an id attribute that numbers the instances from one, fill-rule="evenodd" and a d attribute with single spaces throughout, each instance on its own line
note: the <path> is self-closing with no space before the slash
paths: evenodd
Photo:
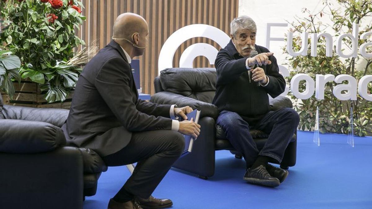
<path id="1" fill-rule="evenodd" d="M 33 120 L 51 123 L 62 127 L 69 110 L 57 108 L 35 108 L 4 105 L 3 113 L 6 119 Z"/>

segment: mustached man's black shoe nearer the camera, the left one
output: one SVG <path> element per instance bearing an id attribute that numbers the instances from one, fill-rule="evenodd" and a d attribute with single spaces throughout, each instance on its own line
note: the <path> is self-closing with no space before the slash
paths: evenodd
<path id="1" fill-rule="evenodd" d="M 254 169 L 248 168 L 243 179 L 251 184 L 258 184 L 268 187 L 277 187 L 280 185 L 279 180 L 270 176 L 264 165 L 260 165 Z"/>

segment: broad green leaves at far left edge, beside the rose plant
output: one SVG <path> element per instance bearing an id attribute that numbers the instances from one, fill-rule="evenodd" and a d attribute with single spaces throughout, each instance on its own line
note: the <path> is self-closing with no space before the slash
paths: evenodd
<path id="1" fill-rule="evenodd" d="M 1 50 L 2 49 L 2 50 Z M 20 68 L 21 61 L 19 57 L 13 55 L 13 52 L 0 48 L 0 90 L 9 94 L 12 98 L 15 90 L 12 79 L 21 81 L 18 69 Z"/>

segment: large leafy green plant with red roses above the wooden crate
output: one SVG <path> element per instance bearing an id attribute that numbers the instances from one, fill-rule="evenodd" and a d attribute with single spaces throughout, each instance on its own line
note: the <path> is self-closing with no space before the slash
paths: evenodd
<path id="1" fill-rule="evenodd" d="M 21 77 L 47 91 L 48 102 L 64 101 L 81 72 L 67 64 L 74 48 L 85 45 L 75 35 L 86 19 L 78 6 L 73 0 L 0 0 L 0 40 L 20 58 Z"/>

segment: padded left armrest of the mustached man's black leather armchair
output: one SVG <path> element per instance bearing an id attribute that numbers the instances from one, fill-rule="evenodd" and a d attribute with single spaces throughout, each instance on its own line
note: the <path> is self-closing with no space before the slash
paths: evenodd
<path id="1" fill-rule="evenodd" d="M 151 96 L 150 101 L 161 105 L 177 105 L 178 107 L 190 106 L 192 109 L 201 110 L 200 118 L 211 117 L 216 119 L 218 116 L 217 106 L 169 91 L 161 91 L 154 94 Z"/>

